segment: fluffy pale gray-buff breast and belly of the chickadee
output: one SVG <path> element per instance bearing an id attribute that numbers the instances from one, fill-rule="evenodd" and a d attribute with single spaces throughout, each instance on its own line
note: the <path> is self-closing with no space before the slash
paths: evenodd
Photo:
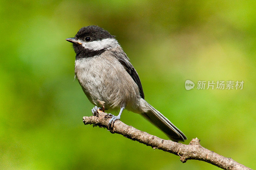
<path id="1" fill-rule="evenodd" d="M 84 58 L 76 61 L 75 74 L 92 104 L 99 106 L 101 100 L 106 109 L 137 107 L 138 86 L 118 61 Z"/>

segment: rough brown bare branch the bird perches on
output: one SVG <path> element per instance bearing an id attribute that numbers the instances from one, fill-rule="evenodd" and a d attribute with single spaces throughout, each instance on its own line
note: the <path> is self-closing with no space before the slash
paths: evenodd
<path id="1" fill-rule="evenodd" d="M 100 112 L 99 118 L 96 116 L 84 116 L 83 122 L 85 125 L 92 124 L 99 127 L 107 128 L 109 118 L 104 119 L 105 115 L 106 113 Z M 197 138 L 192 139 L 188 145 L 181 144 L 173 142 L 171 140 L 164 140 L 159 137 L 150 135 L 147 132 L 140 131 L 132 126 L 128 126 L 120 120 L 117 120 L 115 122 L 113 129 L 111 129 L 111 133 L 118 133 L 123 135 L 124 137 L 138 141 L 147 146 L 151 146 L 153 148 L 157 148 L 166 152 L 173 153 L 175 155 L 179 155 L 180 161 L 182 163 L 185 163 L 189 159 L 195 159 L 208 162 L 222 169 L 251 169 L 242 164 L 239 164 L 238 162 L 234 161 L 231 158 L 226 158 L 202 147 L 201 144 L 199 143 L 200 140 Z"/>

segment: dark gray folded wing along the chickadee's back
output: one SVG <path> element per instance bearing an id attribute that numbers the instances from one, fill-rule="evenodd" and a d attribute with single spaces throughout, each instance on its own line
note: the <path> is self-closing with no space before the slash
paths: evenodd
<path id="1" fill-rule="evenodd" d="M 140 97 L 144 99 L 144 93 L 143 93 L 142 85 L 140 83 L 139 75 L 138 75 L 137 71 L 134 69 L 134 67 L 132 66 L 132 64 L 130 63 L 127 55 L 124 53 L 123 50 L 121 53 L 120 52 L 117 53 L 116 51 L 112 51 L 112 53 L 113 53 L 113 55 L 116 56 L 118 61 L 124 66 L 125 70 L 130 74 L 132 79 L 138 85 L 139 90 L 140 90 Z"/>

